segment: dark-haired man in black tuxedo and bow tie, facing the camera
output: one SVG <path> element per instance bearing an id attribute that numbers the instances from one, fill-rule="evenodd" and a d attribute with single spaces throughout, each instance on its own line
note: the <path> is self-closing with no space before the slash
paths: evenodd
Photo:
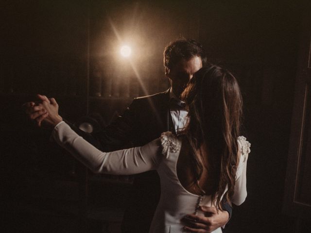
<path id="1" fill-rule="evenodd" d="M 94 146 L 104 151 L 122 149 L 132 143 L 142 146 L 162 132 L 179 133 L 185 126 L 187 111 L 182 106 L 180 94 L 193 74 L 206 63 L 202 46 L 194 40 L 180 39 L 172 42 L 164 50 L 165 75 L 171 88 L 152 96 L 133 100 L 122 116 L 107 126 L 104 131 L 92 135 L 71 128 Z M 47 100 L 39 96 L 41 100 Z M 45 111 L 34 102 L 26 103 L 26 112 L 38 125 L 45 117 Z M 129 197 L 129 206 L 124 214 L 122 233 L 147 233 L 160 196 L 159 177 L 155 171 L 138 174 Z M 190 215 L 185 217 L 185 225 L 190 232 L 211 232 L 228 221 L 231 207 L 217 212 L 213 207 L 203 209 L 206 217 Z M 207 217 L 208 216 L 208 217 Z"/>

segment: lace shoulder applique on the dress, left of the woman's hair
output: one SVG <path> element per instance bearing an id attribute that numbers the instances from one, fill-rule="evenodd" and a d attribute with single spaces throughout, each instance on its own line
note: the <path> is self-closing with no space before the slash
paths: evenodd
<path id="1" fill-rule="evenodd" d="M 169 158 L 170 152 L 176 153 L 179 150 L 179 142 L 176 135 L 172 132 L 165 132 L 161 134 L 162 154 Z"/>

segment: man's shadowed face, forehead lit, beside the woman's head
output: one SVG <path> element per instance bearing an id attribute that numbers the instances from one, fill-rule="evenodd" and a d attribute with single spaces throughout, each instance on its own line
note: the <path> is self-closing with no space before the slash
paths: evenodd
<path id="1" fill-rule="evenodd" d="M 202 68 L 201 57 L 194 56 L 190 60 L 182 59 L 172 69 L 166 70 L 173 92 L 177 97 L 183 92 L 193 74 Z"/>

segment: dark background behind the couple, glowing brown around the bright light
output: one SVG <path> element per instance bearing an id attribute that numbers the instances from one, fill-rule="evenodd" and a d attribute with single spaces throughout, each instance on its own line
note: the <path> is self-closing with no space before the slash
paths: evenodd
<path id="1" fill-rule="evenodd" d="M 132 178 L 90 174 L 50 143 L 21 105 L 42 93 L 72 122 L 99 113 L 108 124 L 134 97 L 167 89 L 162 54 L 180 36 L 202 43 L 209 61 L 232 70 L 242 89 L 252 143 L 248 197 L 234 207 L 226 232 L 294 232 L 298 218 L 282 213 L 282 205 L 307 7 L 304 1 L 2 0 L 4 232 L 100 232 L 103 222 L 118 229 Z M 119 55 L 123 43 L 132 46 L 128 60 Z M 116 217 L 96 216 L 103 209 Z"/>

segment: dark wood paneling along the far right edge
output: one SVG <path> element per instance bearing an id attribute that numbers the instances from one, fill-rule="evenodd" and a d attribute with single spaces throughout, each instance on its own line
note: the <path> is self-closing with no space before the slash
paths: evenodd
<path id="1" fill-rule="evenodd" d="M 288 154 L 283 210 L 299 222 L 311 216 L 311 17 L 302 21 L 298 68 L 295 84 L 292 130 Z"/>

